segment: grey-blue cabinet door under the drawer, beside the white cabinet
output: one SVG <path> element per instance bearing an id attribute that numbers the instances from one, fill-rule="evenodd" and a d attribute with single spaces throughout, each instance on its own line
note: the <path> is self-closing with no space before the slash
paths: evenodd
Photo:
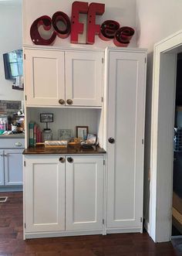
<path id="1" fill-rule="evenodd" d="M 23 149 L 5 150 L 5 185 L 22 185 Z"/>

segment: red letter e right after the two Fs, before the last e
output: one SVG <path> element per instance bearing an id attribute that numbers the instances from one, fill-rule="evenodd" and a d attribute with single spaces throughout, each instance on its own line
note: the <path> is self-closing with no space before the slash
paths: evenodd
<path id="1" fill-rule="evenodd" d="M 113 39 L 116 31 L 120 29 L 120 24 L 114 20 L 106 20 L 100 27 L 99 38 L 104 41 Z"/>

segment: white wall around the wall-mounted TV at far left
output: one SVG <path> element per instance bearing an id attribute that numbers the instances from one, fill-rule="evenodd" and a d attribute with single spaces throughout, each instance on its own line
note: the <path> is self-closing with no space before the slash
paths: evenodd
<path id="1" fill-rule="evenodd" d="M 22 48 L 21 2 L 0 2 L 0 100 L 22 101 L 23 93 L 12 90 L 12 81 L 5 80 L 3 53 Z"/>

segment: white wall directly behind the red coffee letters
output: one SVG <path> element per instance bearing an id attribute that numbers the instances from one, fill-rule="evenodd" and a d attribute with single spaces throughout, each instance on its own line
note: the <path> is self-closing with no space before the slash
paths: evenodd
<path id="1" fill-rule="evenodd" d="M 71 17 L 72 2 L 74 0 L 24 0 L 23 1 L 23 44 L 32 45 L 32 40 L 29 36 L 29 29 L 35 19 L 42 15 L 52 15 L 57 11 L 66 12 Z M 105 12 L 102 16 L 97 16 L 96 22 L 102 24 L 106 19 L 114 19 L 120 22 L 122 26 L 131 26 L 136 29 L 136 0 L 96 0 L 96 1 L 83 1 L 83 2 L 99 2 L 105 4 Z M 69 46 L 70 36 L 67 39 L 60 39 L 56 37 L 54 46 Z M 77 44 L 70 44 L 72 47 L 78 47 Z M 84 46 L 84 45 L 82 45 Z M 96 36 L 96 47 L 105 48 L 106 46 L 114 46 L 113 42 L 105 42 Z M 92 46 L 92 47 L 94 47 Z M 136 36 L 130 42 L 130 47 L 136 46 Z M 88 47 L 88 46 L 86 46 Z"/>

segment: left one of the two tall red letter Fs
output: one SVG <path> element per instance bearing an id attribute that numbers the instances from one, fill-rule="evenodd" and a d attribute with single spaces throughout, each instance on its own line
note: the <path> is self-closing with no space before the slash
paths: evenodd
<path id="1" fill-rule="evenodd" d="M 79 34 L 83 33 L 84 25 L 79 22 L 79 13 L 88 12 L 88 2 L 73 2 L 72 3 L 72 32 L 71 43 L 78 43 Z"/>

